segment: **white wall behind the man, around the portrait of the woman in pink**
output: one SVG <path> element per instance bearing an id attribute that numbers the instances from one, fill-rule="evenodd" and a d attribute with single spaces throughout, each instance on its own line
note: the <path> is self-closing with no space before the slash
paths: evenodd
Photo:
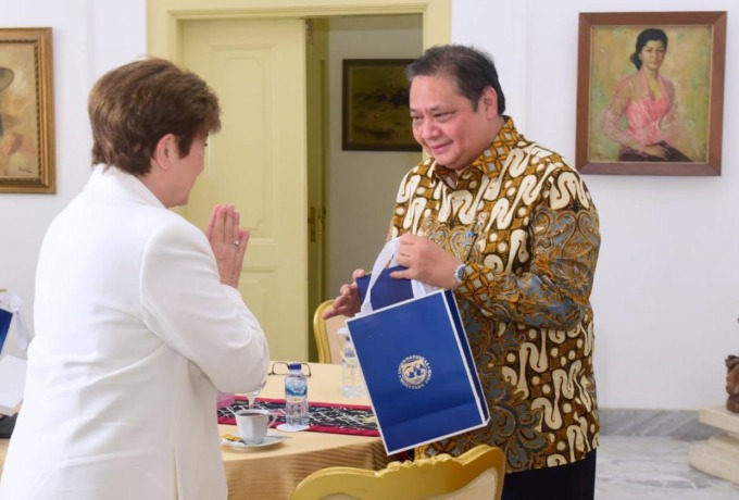
<path id="1" fill-rule="evenodd" d="M 527 136 L 573 160 L 578 13 L 676 10 L 729 11 L 723 174 L 586 176 L 603 239 L 592 302 L 598 391 L 608 408 L 698 409 L 726 401 L 724 360 L 739 351 L 739 4 L 454 0 L 452 5 L 452 38 L 493 55 L 510 99 L 508 113 Z"/>

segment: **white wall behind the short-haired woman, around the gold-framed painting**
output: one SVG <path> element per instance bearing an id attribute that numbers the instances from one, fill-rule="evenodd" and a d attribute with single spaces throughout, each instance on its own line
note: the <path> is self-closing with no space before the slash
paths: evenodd
<path id="1" fill-rule="evenodd" d="M 145 15 L 146 0 L 26 0 L 2 10 L 2 27 L 52 28 L 57 195 L 0 193 L 0 288 L 28 304 L 32 329 L 41 240 L 90 173 L 87 95 L 102 73 L 146 52 Z"/>

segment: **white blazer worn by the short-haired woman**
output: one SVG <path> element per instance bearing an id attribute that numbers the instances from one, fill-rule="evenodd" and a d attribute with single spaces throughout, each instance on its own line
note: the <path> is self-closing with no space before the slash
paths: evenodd
<path id="1" fill-rule="evenodd" d="M 97 166 L 43 240 L 34 317 L 0 499 L 226 499 L 216 388 L 270 353 L 200 229 Z"/>

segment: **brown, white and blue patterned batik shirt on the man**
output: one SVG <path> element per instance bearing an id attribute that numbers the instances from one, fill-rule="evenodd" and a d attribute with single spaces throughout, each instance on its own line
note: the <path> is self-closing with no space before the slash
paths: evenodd
<path id="1" fill-rule="evenodd" d="M 454 290 L 490 424 L 416 449 L 502 448 L 508 472 L 578 461 L 598 446 L 590 290 L 598 213 L 579 174 L 505 124 L 456 183 L 428 159 L 403 178 L 390 237 L 413 233 L 465 262 Z"/>

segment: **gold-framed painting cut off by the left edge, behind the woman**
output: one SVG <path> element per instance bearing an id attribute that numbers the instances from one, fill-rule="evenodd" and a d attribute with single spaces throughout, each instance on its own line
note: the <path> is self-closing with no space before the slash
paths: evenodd
<path id="1" fill-rule="evenodd" d="M 0 192 L 55 192 L 51 28 L 0 28 Z"/>

